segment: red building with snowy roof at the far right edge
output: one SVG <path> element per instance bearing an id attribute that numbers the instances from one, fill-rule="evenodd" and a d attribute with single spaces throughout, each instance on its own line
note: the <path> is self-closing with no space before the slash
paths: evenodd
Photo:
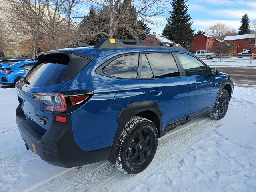
<path id="1" fill-rule="evenodd" d="M 245 50 L 252 50 L 255 47 L 255 34 L 226 36 L 224 40 L 234 42 L 238 53 L 244 52 Z"/>

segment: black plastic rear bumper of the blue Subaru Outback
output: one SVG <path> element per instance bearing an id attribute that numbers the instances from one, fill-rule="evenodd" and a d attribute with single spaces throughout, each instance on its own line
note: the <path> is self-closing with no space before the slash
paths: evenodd
<path id="1" fill-rule="evenodd" d="M 25 144 L 49 164 L 60 167 L 75 167 L 108 160 L 112 147 L 83 151 L 74 142 L 70 114 L 67 123 L 53 121 L 44 135 L 28 124 L 28 117 L 20 105 L 16 109 L 16 121 Z M 55 119 L 55 118 L 53 118 Z"/>

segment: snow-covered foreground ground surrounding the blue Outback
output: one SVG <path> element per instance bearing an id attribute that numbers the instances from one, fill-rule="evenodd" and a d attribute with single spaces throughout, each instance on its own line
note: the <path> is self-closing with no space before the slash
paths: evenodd
<path id="1" fill-rule="evenodd" d="M 0 88 L 0 191 L 256 191 L 256 87 L 234 88 L 222 120 L 207 115 L 160 138 L 148 168 L 126 176 L 109 162 L 59 168 L 26 150 L 14 88 Z"/>

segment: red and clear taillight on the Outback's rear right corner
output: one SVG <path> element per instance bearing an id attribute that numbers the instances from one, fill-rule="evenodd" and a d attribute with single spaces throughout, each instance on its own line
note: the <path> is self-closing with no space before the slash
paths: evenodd
<path id="1" fill-rule="evenodd" d="M 46 104 L 46 111 L 71 112 L 84 104 L 93 95 L 90 91 L 63 93 L 32 93 L 35 100 Z"/>

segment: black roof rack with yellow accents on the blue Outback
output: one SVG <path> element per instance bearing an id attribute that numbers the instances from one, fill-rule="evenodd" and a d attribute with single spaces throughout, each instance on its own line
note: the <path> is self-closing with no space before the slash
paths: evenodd
<path id="1" fill-rule="evenodd" d="M 128 44 L 130 43 L 130 44 Z M 150 44 L 143 44 L 150 43 Z M 152 45 L 153 44 L 153 45 Z M 140 48 L 140 47 L 154 47 L 159 48 L 158 45 L 164 46 L 164 48 L 173 48 L 185 50 L 178 43 L 161 42 L 161 41 L 148 41 L 148 40 L 134 40 L 134 39 L 102 39 L 98 42 L 94 48 L 96 49 L 113 49 L 113 48 Z"/>

